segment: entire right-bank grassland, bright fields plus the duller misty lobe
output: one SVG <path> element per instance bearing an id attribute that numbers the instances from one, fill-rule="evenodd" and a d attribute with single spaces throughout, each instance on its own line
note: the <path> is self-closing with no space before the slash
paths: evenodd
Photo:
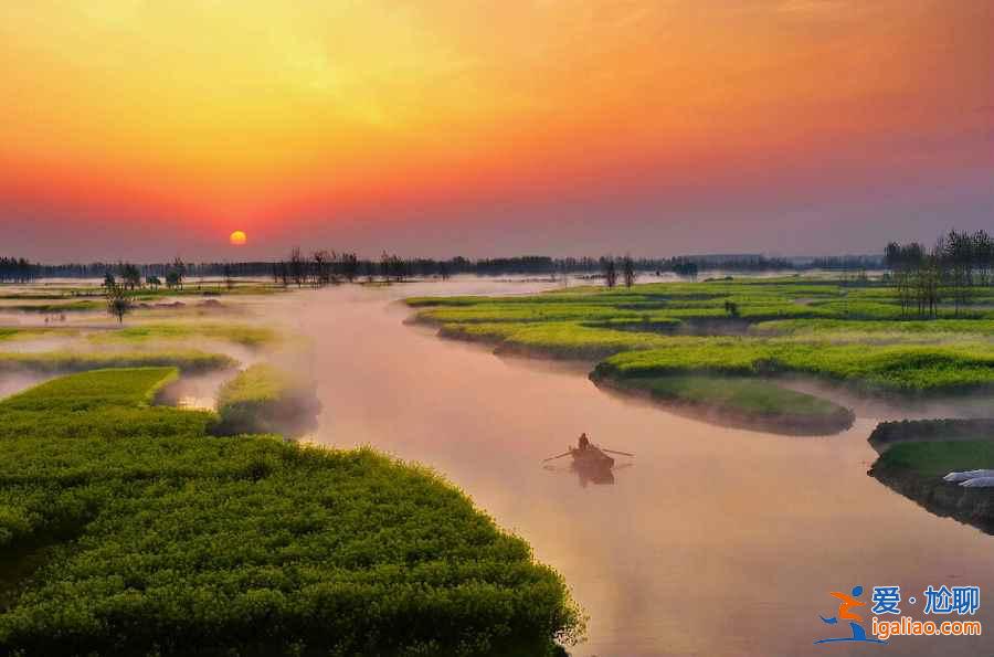
<path id="1" fill-rule="evenodd" d="M 737 426 L 834 433 L 850 411 L 807 377 L 893 401 L 994 393 L 994 289 L 922 320 L 884 282 L 743 278 L 408 300 L 415 321 L 497 353 L 594 361 L 602 388 Z"/>

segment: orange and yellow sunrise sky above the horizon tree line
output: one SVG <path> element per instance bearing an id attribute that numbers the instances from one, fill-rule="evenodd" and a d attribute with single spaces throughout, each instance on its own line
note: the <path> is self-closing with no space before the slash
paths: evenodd
<path id="1" fill-rule="evenodd" d="M 32 0 L 0 71 L 0 254 L 45 262 L 994 230 L 991 0 Z"/>

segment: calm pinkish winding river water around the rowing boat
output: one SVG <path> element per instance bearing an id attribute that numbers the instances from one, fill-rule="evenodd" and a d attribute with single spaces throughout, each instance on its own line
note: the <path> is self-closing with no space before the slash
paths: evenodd
<path id="1" fill-rule="evenodd" d="M 324 412 L 313 439 L 431 465 L 526 538 L 590 615 L 573 655 L 994 654 L 986 637 L 812 645 L 845 633 L 818 615 L 836 612 L 829 591 L 855 584 L 899 584 L 919 598 L 928 584 L 977 584 L 976 618 L 994 621 L 984 597 L 994 538 L 868 477 L 875 418 L 831 437 L 717 427 L 605 394 L 577 368 L 438 339 L 403 325 L 406 310 L 391 304 L 540 287 L 343 286 L 268 301 L 314 340 Z M 635 465 L 613 486 L 544 469 L 580 432 L 634 452 Z"/>

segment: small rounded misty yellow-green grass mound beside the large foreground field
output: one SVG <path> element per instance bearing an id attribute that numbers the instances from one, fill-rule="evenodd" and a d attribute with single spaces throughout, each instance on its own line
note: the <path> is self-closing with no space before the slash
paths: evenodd
<path id="1" fill-rule="evenodd" d="M 314 386 L 289 372 L 260 363 L 221 386 L 216 433 L 305 433 L 320 409 Z"/>

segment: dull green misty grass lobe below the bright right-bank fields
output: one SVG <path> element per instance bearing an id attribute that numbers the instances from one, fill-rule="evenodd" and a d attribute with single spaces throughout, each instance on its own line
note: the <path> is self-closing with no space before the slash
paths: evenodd
<path id="1" fill-rule="evenodd" d="M 776 433 L 836 433 L 854 420 L 849 410 L 828 400 L 760 379 L 647 377 L 625 379 L 618 386 L 677 407 L 705 410 L 725 423 Z"/>

